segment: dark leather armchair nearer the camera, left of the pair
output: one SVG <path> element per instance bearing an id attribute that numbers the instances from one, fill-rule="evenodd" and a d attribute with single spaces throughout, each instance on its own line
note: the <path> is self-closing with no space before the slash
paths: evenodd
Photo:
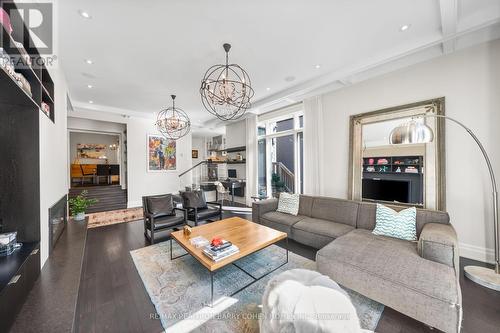
<path id="1" fill-rule="evenodd" d="M 175 207 L 172 194 L 142 197 L 144 213 L 144 236 L 155 243 L 155 232 L 182 228 L 187 224 L 187 211 Z M 151 237 L 148 236 L 148 231 Z"/>

